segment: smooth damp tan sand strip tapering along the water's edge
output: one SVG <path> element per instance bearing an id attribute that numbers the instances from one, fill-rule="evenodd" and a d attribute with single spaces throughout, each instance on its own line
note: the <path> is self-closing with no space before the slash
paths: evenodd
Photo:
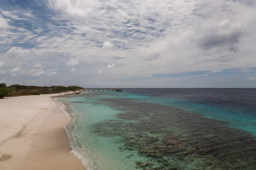
<path id="1" fill-rule="evenodd" d="M 68 118 L 58 103 L 35 133 L 29 153 L 14 170 L 85 170 L 81 161 L 70 153 L 64 125 Z"/>

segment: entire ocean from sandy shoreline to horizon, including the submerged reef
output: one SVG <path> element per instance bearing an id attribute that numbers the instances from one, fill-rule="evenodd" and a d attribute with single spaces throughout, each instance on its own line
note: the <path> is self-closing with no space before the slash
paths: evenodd
<path id="1" fill-rule="evenodd" d="M 136 88 L 60 97 L 88 170 L 256 170 L 256 89 Z"/>

